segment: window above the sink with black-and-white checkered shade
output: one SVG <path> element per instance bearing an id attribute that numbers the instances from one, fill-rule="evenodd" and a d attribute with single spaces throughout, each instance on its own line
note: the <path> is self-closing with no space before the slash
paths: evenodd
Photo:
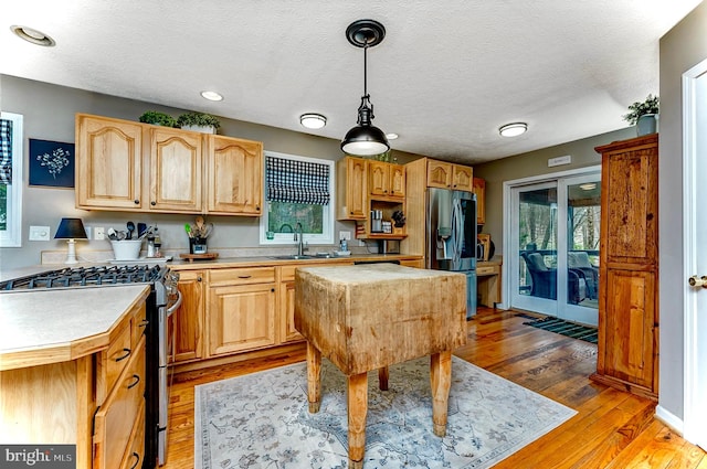
<path id="1" fill-rule="evenodd" d="M 295 244 L 297 223 L 309 244 L 334 244 L 334 161 L 265 151 L 261 244 Z"/>

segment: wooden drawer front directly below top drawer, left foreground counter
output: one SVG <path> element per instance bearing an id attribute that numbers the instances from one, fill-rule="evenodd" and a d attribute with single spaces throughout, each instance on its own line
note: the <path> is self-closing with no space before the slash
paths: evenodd
<path id="1" fill-rule="evenodd" d="M 119 468 L 133 449 L 133 436 L 145 405 L 145 340 L 94 417 L 94 468 Z M 145 425 L 143 418 L 141 425 Z M 129 466 L 128 466 L 129 467 Z"/>

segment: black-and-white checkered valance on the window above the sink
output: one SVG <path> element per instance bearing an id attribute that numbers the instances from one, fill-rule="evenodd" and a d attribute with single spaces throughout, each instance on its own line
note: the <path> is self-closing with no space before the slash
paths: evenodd
<path id="1" fill-rule="evenodd" d="M 327 164 L 265 156 L 265 185 L 271 202 L 329 204 Z"/>

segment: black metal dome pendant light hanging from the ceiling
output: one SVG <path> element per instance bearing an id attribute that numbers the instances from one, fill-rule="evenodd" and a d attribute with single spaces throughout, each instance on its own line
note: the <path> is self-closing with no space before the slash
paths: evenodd
<path id="1" fill-rule="evenodd" d="M 386 36 L 386 28 L 374 20 L 358 20 L 346 29 L 346 38 L 357 47 L 363 47 L 363 96 L 358 108 L 358 125 L 346 134 L 341 150 L 348 154 L 369 157 L 390 150 L 386 134 L 371 125 L 373 105 L 367 87 L 367 51 L 380 44 Z"/>

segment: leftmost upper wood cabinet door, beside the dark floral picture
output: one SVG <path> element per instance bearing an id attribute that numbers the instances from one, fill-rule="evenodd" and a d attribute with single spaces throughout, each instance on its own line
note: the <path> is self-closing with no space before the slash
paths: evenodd
<path id="1" fill-rule="evenodd" d="M 141 154 L 140 124 L 76 115 L 76 206 L 141 209 Z"/>

